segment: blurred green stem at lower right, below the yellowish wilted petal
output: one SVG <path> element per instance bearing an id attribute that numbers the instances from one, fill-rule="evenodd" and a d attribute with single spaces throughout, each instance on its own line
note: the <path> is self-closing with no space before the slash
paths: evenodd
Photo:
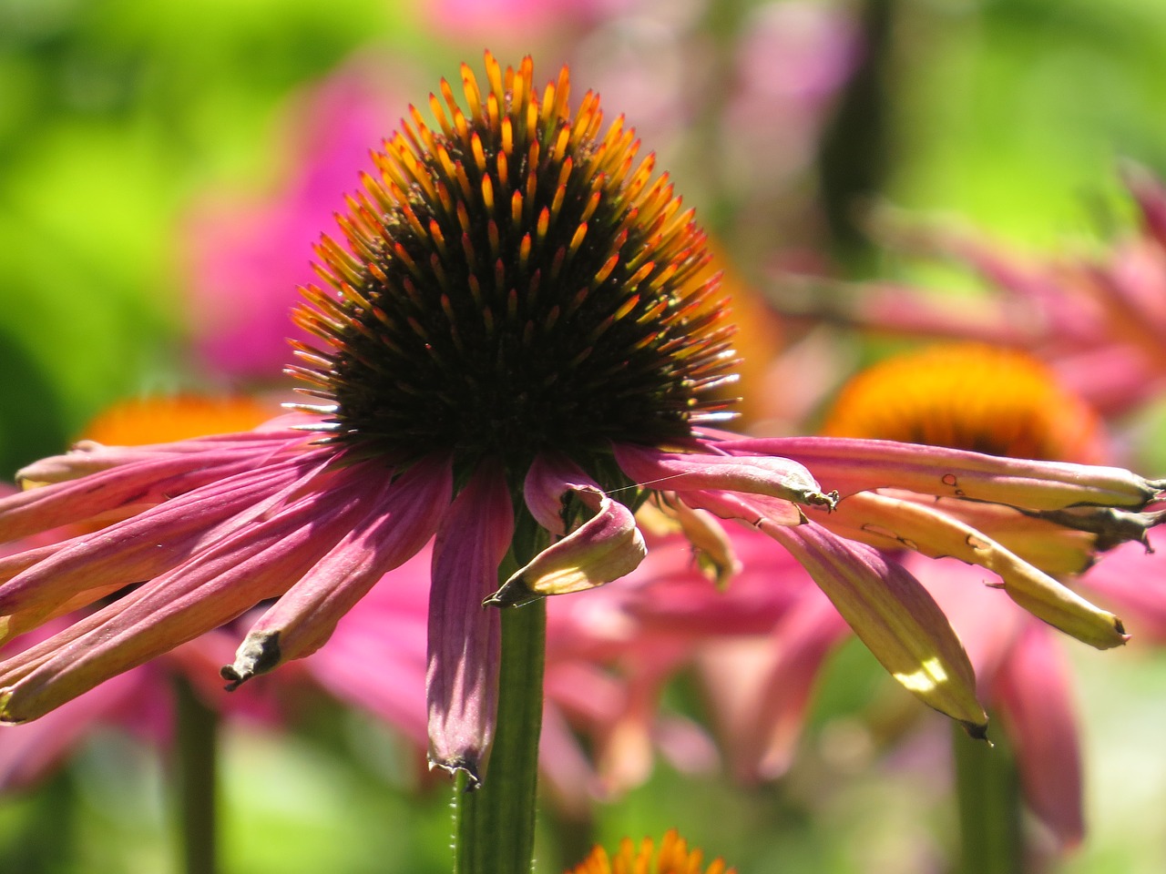
<path id="1" fill-rule="evenodd" d="M 989 747 L 954 727 L 960 874 L 1016 874 L 1026 869 L 1016 762 L 999 740 L 995 742 Z"/>

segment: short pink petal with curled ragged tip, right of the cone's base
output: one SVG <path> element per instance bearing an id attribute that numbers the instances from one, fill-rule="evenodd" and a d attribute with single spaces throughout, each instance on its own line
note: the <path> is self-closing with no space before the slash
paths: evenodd
<path id="1" fill-rule="evenodd" d="M 824 494 L 810 472 L 788 458 L 670 453 L 626 443 L 614 444 L 614 451 L 624 473 L 660 491 L 747 492 L 827 508 L 837 499 Z"/>

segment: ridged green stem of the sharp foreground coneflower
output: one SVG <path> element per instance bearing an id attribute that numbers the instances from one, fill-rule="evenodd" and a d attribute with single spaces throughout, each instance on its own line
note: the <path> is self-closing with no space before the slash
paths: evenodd
<path id="1" fill-rule="evenodd" d="M 517 565 L 503 564 L 506 579 Z M 503 609 L 498 727 L 480 788 L 454 790 L 455 874 L 525 874 L 534 866 L 539 733 L 547 608 L 543 601 Z"/>

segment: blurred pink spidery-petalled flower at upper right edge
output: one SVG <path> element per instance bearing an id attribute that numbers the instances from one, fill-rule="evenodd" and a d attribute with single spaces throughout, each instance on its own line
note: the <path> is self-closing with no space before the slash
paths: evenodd
<path id="1" fill-rule="evenodd" d="M 984 294 L 870 283 L 822 299 L 870 329 L 1025 350 L 1107 417 L 1129 413 L 1166 393 L 1166 188 L 1132 165 L 1125 182 L 1140 228 L 1102 256 L 1019 255 L 976 232 L 885 211 L 873 225 L 885 241 L 970 266 L 989 283 Z"/>

